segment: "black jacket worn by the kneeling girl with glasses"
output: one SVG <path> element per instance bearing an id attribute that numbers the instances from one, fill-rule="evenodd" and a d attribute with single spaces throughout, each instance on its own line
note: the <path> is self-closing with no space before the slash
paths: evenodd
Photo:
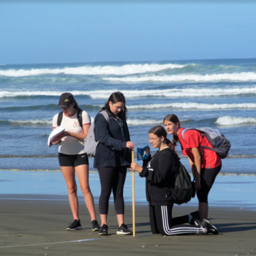
<path id="1" fill-rule="evenodd" d="M 147 167 L 150 161 L 149 167 Z M 171 188 L 178 174 L 177 156 L 169 148 L 157 151 L 146 159 L 139 174 L 146 178 L 146 200 L 149 206 L 172 206 Z"/>

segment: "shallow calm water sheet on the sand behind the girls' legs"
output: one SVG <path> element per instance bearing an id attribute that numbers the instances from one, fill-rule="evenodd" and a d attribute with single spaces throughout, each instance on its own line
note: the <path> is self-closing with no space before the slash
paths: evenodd
<path id="1" fill-rule="evenodd" d="M 145 179 L 134 175 L 135 201 L 146 203 Z M 90 172 L 90 189 L 95 202 L 100 198 L 100 177 L 97 171 Z M 53 200 L 68 201 L 65 180 L 60 171 L 1 171 L 0 200 Z M 23 186 L 21 186 L 21 183 Z M 210 206 L 235 207 L 255 210 L 255 175 L 218 175 L 209 194 Z M 78 198 L 84 203 L 78 183 Z M 124 200 L 132 202 L 132 173 L 127 174 L 124 185 Z M 113 196 L 110 201 L 114 201 Z M 182 206 L 185 206 L 183 204 Z M 186 206 L 198 206 L 197 197 L 191 198 Z M 174 207 L 175 208 L 178 206 Z"/>

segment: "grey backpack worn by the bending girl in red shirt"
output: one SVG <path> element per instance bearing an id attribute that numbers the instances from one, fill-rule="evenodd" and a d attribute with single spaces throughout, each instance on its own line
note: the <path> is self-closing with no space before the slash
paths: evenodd
<path id="1" fill-rule="evenodd" d="M 195 128 L 186 128 L 183 129 L 181 132 L 181 136 L 184 142 L 186 142 L 186 140 L 184 139 L 184 133 L 189 129 Z M 195 130 L 203 134 L 206 137 L 206 139 L 208 139 L 210 146 L 213 147 L 210 148 L 208 146 L 201 146 L 201 148 L 215 151 L 220 156 L 221 159 L 225 159 L 228 156 L 228 151 L 230 150 L 231 144 L 228 141 L 228 139 L 226 139 L 226 137 L 220 133 L 218 129 L 203 127 Z"/>

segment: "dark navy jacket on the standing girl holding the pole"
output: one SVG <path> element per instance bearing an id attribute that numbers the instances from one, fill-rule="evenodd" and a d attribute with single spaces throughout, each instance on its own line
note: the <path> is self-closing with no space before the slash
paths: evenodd
<path id="1" fill-rule="evenodd" d="M 105 117 L 98 113 L 95 117 L 95 140 L 97 144 L 94 168 L 130 166 L 132 162 L 132 150 L 127 149 L 130 141 L 127 122 L 121 120 L 122 127 L 117 119 L 110 115 L 107 122 Z"/>

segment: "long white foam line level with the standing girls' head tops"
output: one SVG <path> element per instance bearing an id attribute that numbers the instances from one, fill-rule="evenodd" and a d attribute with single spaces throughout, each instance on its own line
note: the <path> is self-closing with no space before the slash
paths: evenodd
<path id="1" fill-rule="evenodd" d="M 73 95 L 87 95 L 92 99 L 106 99 L 108 95 L 117 89 L 112 90 L 92 90 L 92 91 L 71 91 Z M 20 97 L 20 96 L 60 96 L 61 91 L 1 91 L 1 97 Z M 236 87 L 228 89 L 220 88 L 183 88 L 166 90 L 122 90 L 127 98 L 134 97 L 218 97 L 223 95 L 247 95 L 256 94 L 256 87 Z"/>

